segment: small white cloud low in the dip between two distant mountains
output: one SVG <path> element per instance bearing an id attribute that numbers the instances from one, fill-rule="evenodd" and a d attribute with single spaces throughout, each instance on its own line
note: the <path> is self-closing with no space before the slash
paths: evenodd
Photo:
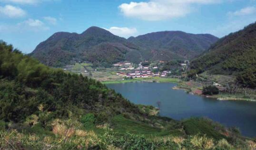
<path id="1" fill-rule="evenodd" d="M 130 37 L 130 36 L 135 36 L 138 31 L 136 28 L 128 28 L 128 27 L 117 27 L 117 26 L 112 26 L 109 29 L 104 28 L 105 30 L 108 30 L 114 35 L 118 35 L 121 37 Z"/>

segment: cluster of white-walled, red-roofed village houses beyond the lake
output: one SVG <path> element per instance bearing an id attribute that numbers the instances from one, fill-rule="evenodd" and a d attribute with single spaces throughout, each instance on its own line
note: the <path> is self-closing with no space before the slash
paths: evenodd
<path id="1" fill-rule="evenodd" d="M 171 71 L 158 70 L 158 66 L 142 65 L 140 62 L 135 65 L 131 62 L 118 62 L 113 64 L 114 67 L 118 68 L 118 76 L 122 76 L 123 79 L 134 79 L 134 78 L 150 78 L 150 77 L 167 77 Z"/>

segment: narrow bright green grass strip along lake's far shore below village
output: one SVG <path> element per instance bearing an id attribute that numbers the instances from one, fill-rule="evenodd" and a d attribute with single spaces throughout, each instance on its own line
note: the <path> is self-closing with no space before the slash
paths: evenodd
<path id="1" fill-rule="evenodd" d="M 180 80 L 176 78 L 161 78 L 161 77 L 152 77 L 152 78 L 134 78 L 134 79 L 123 79 L 123 80 L 109 80 L 109 81 L 103 81 L 103 84 L 113 84 L 113 83 L 128 83 L 128 82 L 141 82 L 141 81 L 147 81 L 147 82 L 172 82 L 172 83 L 178 83 Z"/>

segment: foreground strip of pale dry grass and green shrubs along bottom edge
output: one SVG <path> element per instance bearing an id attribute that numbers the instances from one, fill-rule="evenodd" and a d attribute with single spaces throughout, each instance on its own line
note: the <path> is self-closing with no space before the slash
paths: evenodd
<path id="1" fill-rule="evenodd" d="M 41 134 L 46 129 L 36 124 L 32 132 L 0 129 L 2 150 L 255 150 L 252 140 L 227 141 L 222 137 L 209 137 L 212 128 L 218 128 L 207 119 L 186 120 L 184 128 L 193 135 L 173 135 L 168 129 L 136 122 L 116 115 L 112 118 L 112 130 L 83 129 L 76 120 L 59 120 L 50 134 Z M 62 123 L 67 124 L 62 124 Z M 80 125 L 79 125 L 80 124 Z M 202 129 L 201 129 L 202 128 Z M 209 130 L 209 131 L 208 131 Z M 202 131 L 204 134 L 202 134 Z M 197 134 L 196 132 L 200 132 Z M 68 133 L 68 134 L 66 134 Z M 195 134 L 195 135 L 194 135 Z M 238 139 L 239 140 L 239 139 Z"/>

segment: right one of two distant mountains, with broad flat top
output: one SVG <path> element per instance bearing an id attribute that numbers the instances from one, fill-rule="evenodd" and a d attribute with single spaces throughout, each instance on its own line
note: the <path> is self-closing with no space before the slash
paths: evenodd
<path id="1" fill-rule="evenodd" d="M 207 50 L 217 40 L 213 35 L 188 34 L 182 31 L 155 32 L 128 38 L 129 42 L 151 51 L 151 60 L 166 61 L 173 58 L 191 59 Z"/>

